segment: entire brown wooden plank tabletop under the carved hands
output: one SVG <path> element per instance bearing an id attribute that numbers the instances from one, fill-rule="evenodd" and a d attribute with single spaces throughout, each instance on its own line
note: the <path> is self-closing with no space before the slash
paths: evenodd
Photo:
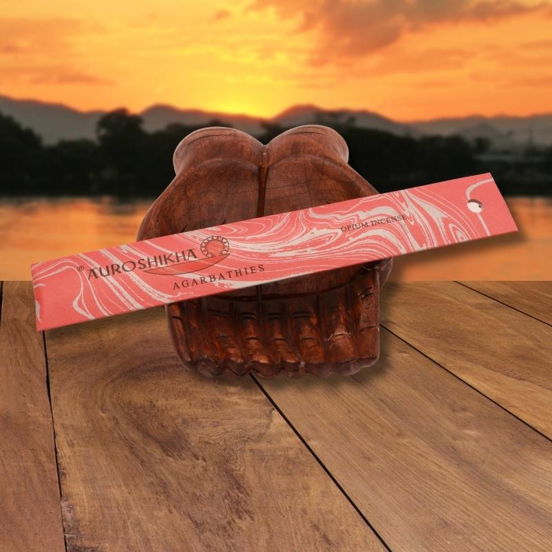
<path id="1" fill-rule="evenodd" d="M 377 365 L 295 381 L 1 292 L 1 552 L 552 550 L 552 282 L 390 282 Z"/>

